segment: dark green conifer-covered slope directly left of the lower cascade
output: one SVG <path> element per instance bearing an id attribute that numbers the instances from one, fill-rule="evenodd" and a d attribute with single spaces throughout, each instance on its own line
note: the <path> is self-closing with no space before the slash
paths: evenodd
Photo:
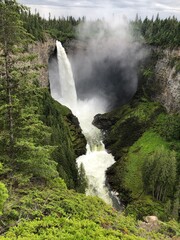
<path id="1" fill-rule="evenodd" d="M 86 140 L 81 133 L 77 119 L 70 110 L 54 101 L 49 92 L 41 89 L 39 103 L 40 118 L 51 129 L 51 158 L 57 163 L 57 170 L 68 188 L 78 188 L 76 158 L 85 152 Z"/>

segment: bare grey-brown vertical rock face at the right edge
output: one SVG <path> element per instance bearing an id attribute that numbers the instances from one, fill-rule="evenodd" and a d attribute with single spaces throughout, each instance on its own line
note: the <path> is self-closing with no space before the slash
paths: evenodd
<path id="1" fill-rule="evenodd" d="M 155 66 L 156 101 L 168 112 L 180 112 L 180 49 L 164 50 Z"/>

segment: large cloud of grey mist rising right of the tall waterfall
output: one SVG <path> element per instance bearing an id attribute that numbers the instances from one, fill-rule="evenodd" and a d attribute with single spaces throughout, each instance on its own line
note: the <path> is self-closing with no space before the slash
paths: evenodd
<path id="1" fill-rule="evenodd" d="M 78 98 L 98 97 L 107 102 L 107 110 L 126 103 L 137 90 L 137 68 L 147 55 L 134 41 L 128 21 L 85 22 L 78 26 L 77 38 L 69 58 Z"/>

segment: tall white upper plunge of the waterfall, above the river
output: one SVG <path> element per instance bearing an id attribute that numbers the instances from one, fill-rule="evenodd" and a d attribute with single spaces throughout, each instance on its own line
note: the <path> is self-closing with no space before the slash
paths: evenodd
<path id="1" fill-rule="evenodd" d="M 76 108 L 77 94 L 71 64 L 61 42 L 56 41 L 61 92 L 52 96 L 69 108 Z"/>

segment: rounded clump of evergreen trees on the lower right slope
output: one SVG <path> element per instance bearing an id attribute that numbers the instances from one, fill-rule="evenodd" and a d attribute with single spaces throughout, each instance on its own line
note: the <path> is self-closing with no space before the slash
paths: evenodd
<path id="1" fill-rule="evenodd" d="M 142 169 L 144 189 L 154 198 L 165 201 L 172 194 L 176 180 L 176 157 L 163 147 L 152 153 Z"/>

